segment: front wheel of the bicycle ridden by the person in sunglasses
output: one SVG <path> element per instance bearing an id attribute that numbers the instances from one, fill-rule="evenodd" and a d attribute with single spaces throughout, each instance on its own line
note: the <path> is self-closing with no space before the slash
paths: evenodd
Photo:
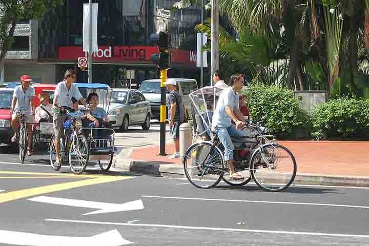
<path id="1" fill-rule="evenodd" d="M 73 136 L 68 148 L 70 169 L 75 174 L 85 171 L 89 159 L 87 139 L 83 135 Z"/>

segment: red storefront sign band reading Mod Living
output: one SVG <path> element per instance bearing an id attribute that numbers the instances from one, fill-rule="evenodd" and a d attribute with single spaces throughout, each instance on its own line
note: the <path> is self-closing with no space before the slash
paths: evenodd
<path id="1" fill-rule="evenodd" d="M 97 52 L 93 52 L 93 60 L 106 63 L 151 63 L 151 55 L 158 53 L 154 46 L 99 46 Z M 174 63 L 196 65 L 196 53 L 188 50 L 172 50 Z M 59 46 L 59 61 L 75 61 L 78 57 L 88 57 L 82 46 Z"/>

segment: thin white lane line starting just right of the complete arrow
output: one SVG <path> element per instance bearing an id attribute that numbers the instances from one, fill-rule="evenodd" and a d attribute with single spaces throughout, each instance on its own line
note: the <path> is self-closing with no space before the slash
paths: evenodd
<path id="1" fill-rule="evenodd" d="M 343 208 L 369 209 L 369 207 L 366 207 L 366 206 L 353 206 L 353 205 L 330 204 L 330 203 L 308 203 L 308 202 L 289 202 L 289 201 L 253 201 L 253 200 L 231 200 L 231 199 L 171 197 L 171 196 L 141 196 L 141 197 L 161 198 L 161 199 L 177 199 L 177 200 L 232 201 L 232 202 L 292 204 L 292 205 L 308 205 L 308 206 L 325 206 L 325 207 L 343 207 Z"/>

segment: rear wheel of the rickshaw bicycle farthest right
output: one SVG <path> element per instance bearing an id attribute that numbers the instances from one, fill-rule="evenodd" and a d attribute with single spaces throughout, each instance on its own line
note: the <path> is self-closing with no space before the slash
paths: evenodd
<path id="1" fill-rule="evenodd" d="M 186 151 L 183 168 L 192 185 L 208 189 L 220 182 L 224 160 L 220 151 L 210 142 L 199 142 Z"/>

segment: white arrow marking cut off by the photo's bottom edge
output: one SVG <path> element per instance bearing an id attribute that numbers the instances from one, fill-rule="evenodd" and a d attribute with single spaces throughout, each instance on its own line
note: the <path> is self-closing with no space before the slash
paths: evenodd
<path id="1" fill-rule="evenodd" d="M 52 236 L 39 235 L 25 232 L 12 232 L 0 230 L 0 243 L 7 243 L 13 245 L 37 245 L 37 246 L 74 246 L 74 245 L 89 245 L 89 246 L 119 246 L 132 244 L 121 237 L 117 230 L 101 233 L 92 237 L 69 237 L 69 236 Z"/>

